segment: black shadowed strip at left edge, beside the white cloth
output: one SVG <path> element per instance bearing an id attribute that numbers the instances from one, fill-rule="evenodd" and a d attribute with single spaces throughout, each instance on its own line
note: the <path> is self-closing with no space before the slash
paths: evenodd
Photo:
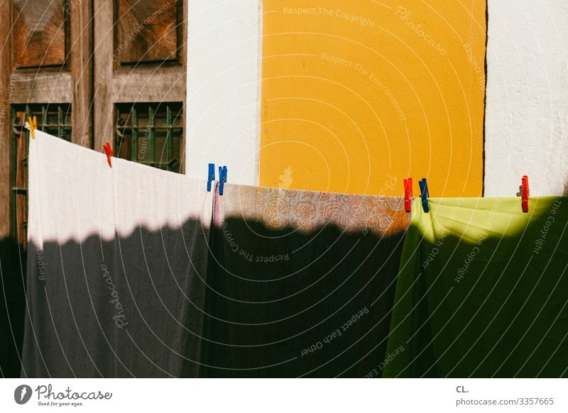
<path id="1" fill-rule="evenodd" d="M 23 254 L 23 255 L 21 255 Z M 21 262 L 23 260 L 23 262 Z M 26 253 L 10 239 L 0 241 L 0 376 L 20 375 L 23 314 L 26 303 Z"/>

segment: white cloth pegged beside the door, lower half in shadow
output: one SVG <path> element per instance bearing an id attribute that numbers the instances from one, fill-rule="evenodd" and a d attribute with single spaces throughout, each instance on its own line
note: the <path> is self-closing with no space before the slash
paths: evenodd
<path id="1" fill-rule="evenodd" d="M 213 194 L 35 131 L 22 375 L 197 377 Z"/>

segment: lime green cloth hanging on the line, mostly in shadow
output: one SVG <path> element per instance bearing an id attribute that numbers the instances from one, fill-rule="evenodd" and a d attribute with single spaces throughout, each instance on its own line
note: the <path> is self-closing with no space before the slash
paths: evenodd
<path id="1" fill-rule="evenodd" d="M 568 197 L 420 199 L 383 377 L 568 375 Z"/>

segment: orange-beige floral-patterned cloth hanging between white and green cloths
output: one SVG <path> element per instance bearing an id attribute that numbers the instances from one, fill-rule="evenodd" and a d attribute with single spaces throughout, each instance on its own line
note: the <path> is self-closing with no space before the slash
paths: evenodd
<path id="1" fill-rule="evenodd" d="M 401 197 L 224 187 L 205 377 L 364 377 L 385 357 Z"/>

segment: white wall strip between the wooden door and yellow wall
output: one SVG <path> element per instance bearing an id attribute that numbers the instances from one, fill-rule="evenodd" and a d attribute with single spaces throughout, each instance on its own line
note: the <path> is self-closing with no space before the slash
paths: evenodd
<path id="1" fill-rule="evenodd" d="M 262 1 L 188 3 L 186 173 L 258 185 Z"/>

